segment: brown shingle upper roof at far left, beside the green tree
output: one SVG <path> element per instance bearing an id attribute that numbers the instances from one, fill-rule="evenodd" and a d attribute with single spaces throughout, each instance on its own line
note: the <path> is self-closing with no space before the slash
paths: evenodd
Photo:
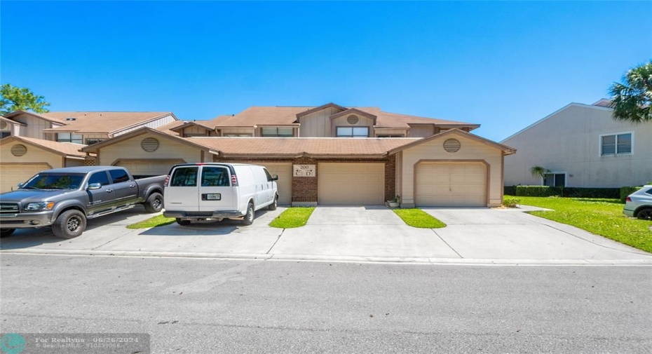
<path id="1" fill-rule="evenodd" d="M 62 127 L 43 129 L 45 132 L 109 133 L 168 114 L 172 112 L 48 112 L 40 115 L 66 124 Z M 75 118 L 75 120 L 66 121 L 66 118 Z"/>

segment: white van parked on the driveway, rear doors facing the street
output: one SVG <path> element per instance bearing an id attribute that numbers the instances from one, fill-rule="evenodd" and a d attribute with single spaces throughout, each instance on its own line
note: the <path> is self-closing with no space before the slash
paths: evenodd
<path id="1" fill-rule="evenodd" d="M 278 176 L 263 166 L 243 163 L 182 163 L 172 166 L 165 179 L 165 217 L 179 225 L 192 220 L 242 218 L 254 222 L 254 212 L 276 209 Z"/>

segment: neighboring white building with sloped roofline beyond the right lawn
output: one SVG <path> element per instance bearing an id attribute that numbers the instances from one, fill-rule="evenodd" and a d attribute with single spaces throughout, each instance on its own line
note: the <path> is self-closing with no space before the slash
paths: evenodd
<path id="1" fill-rule="evenodd" d="M 504 139 L 517 149 L 505 156 L 505 186 L 584 188 L 639 186 L 652 181 L 652 123 L 611 117 L 609 100 L 571 103 Z M 550 170 L 545 180 L 530 169 Z"/>

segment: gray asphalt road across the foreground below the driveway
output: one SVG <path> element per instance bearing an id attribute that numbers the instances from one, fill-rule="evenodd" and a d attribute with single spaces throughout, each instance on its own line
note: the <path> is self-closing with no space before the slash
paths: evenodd
<path id="1" fill-rule="evenodd" d="M 1 332 L 137 332 L 151 353 L 649 353 L 650 266 L 2 254 Z M 86 352 L 92 353 L 92 352 Z"/>

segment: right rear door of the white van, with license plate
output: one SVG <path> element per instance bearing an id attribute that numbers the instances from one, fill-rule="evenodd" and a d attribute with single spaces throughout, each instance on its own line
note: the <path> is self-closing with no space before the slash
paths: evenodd
<path id="1" fill-rule="evenodd" d="M 198 201 L 202 212 L 238 210 L 238 191 L 237 187 L 231 186 L 229 166 L 201 166 Z"/>

